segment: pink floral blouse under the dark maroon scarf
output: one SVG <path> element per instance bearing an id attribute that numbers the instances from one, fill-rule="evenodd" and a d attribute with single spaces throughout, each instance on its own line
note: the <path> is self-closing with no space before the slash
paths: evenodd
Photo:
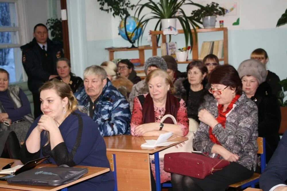
<path id="1" fill-rule="evenodd" d="M 144 94 L 144 97 L 146 97 L 147 94 Z M 139 99 L 135 97 L 133 101 L 133 113 L 131 115 L 131 135 L 135 135 L 135 128 L 142 124 L 142 107 L 141 103 L 139 102 Z M 187 118 L 187 110 L 185 106 L 185 102 L 183 99 L 179 102 L 179 110 L 177 111 L 177 125 L 181 127 L 181 131 L 183 132 L 183 136 L 186 136 L 189 129 L 189 120 Z M 156 107 L 154 106 L 154 118 L 155 122 L 160 122 L 162 117 L 164 116 L 165 107 Z"/>

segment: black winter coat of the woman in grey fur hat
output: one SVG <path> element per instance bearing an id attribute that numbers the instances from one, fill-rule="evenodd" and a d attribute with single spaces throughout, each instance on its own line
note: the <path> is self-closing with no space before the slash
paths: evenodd
<path id="1" fill-rule="evenodd" d="M 258 107 L 258 136 L 265 137 L 266 162 L 268 163 L 280 140 L 278 133 L 281 123 L 280 105 L 267 82 L 258 86 L 251 100 Z"/>

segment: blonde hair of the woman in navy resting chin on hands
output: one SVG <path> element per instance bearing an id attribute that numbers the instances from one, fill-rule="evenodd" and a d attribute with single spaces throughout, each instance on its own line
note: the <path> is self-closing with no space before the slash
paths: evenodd
<path id="1" fill-rule="evenodd" d="M 70 86 L 66 84 L 65 82 L 61 82 L 60 80 L 54 79 L 52 81 L 44 83 L 40 88 L 39 92 L 43 90 L 50 90 L 54 89 L 56 93 L 58 94 L 61 99 L 64 99 L 65 97 L 68 98 L 68 108 L 67 113 L 72 113 L 76 109 L 78 109 L 78 101 L 75 98 Z M 50 142 L 50 133 L 48 131 L 45 131 L 45 135 L 48 138 L 48 141 L 45 143 L 44 146 L 48 145 Z"/>

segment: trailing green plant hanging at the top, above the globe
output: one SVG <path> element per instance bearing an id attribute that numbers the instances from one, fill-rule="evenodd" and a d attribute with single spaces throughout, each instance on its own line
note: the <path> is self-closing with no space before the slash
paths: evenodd
<path id="1" fill-rule="evenodd" d="M 135 7 L 129 0 L 98 0 L 98 2 L 100 2 L 100 10 L 112 12 L 113 17 L 119 16 L 121 19 L 129 14 L 128 9 L 133 10 Z"/>

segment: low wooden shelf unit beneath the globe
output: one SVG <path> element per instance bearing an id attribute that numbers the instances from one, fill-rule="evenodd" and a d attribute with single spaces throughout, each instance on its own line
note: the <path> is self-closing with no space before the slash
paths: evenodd
<path id="1" fill-rule="evenodd" d="M 148 46 L 148 47 L 139 47 L 139 48 L 106 48 L 106 50 L 108 50 L 108 55 L 109 55 L 109 60 L 112 61 L 114 60 L 114 53 L 115 52 L 119 52 L 119 51 L 138 51 L 139 52 L 139 62 L 140 65 L 143 66 L 145 60 L 144 57 L 144 51 L 145 50 L 153 50 L 153 49 L 157 49 L 160 48 L 160 46 L 156 46 L 156 47 L 152 47 L 152 46 Z"/>

